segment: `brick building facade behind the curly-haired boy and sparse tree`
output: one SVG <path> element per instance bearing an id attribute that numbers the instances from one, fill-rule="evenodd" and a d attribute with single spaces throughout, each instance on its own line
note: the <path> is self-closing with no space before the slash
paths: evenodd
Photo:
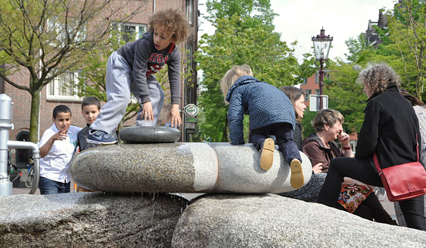
<path id="1" fill-rule="evenodd" d="M 126 28 L 133 28 L 132 32 L 145 33 L 146 28 L 148 28 L 147 23 L 149 18 L 153 16 L 155 11 L 160 11 L 163 9 L 177 9 L 182 11 L 182 13 L 187 16 L 187 21 L 189 23 L 189 30 L 186 43 L 180 44 L 180 50 L 182 53 L 182 60 L 190 60 L 190 65 L 188 67 L 182 66 L 182 73 L 186 73 L 188 69 L 192 69 L 192 74 L 190 79 L 183 79 L 181 81 L 181 102 L 180 107 L 185 106 L 188 103 L 197 103 L 197 70 L 195 62 L 192 60 L 192 54 L 197 50 L 197 32 L 198 32 L 198 0 L 146 0 L 146 1 L 133 1 L 135 8 L 137 4 L 145 4 L 141 13 L 138 13 L 136 16 L 131 18 L 127 23 L 121 23 L 122 26 Z M 129 11 L 133 11 L 131 7 L 128 8 Z M 121 13 L 125 14 L 125 13 Z M 136 29 L 135 29 L 136 28 Z M 135 38 L 136 40 L 136 38 Z M 183 52 L 188 50 L 187 54 Z M 191 67 L 191 68 L 189 68 Z M 20 85 L 29 84 L 29 75 L 25 69 L 21 70 L 16 74 L 13 74 L 9 77 L 13 82 Z M 39 118 L 39 128 L 38 128 L 38 139 L 41 135 L 50 128 L 53 124 L 52 121 L 52 111 L 55 106 L 59 104 L 65 104 L 71 108 L 72 111 L 72 125 L 79 127 L 84 127 L 84 119 L 82 118 L 80 104 L 82 99 L 77 97 L 71 98 L 55 98 L 50 96 L 49 86 L 45 86 L 40 92 L 40 118 Z M 53 90 L 53 87 L 52 87 Z M 10 140 L 25 140 L 28 141 L 29 138 L 29 124 L 30 124 L 30 113 L 31 113 L 31 95 L 28 91 L 17 89 L 4 80 L 0 79 L 0 94 L 8 95 L 13 101 L 13 113 L 12 113 L 12 123 L 14 125 L 13 130 L 9 133 Z M 166 99 L 163 106 L 163 111 L 160 114 L 158 123 L 163 123 L 167 121 L 167 114 L 170 110 L 170 91 L 165 91 Z M 184 120 L 183 116 L 182 121 Z M 124 123 L 125 126 L 134 125 L 136 118 L 128 120 Z M 181 140 L 185 140 L 186 132 L 182 130 Z M 13 154 L 13 159 L 16 164 L 22 165 L 26 164 L 28 161 L 26 150 L 17 150 L 16 154 Z"/>

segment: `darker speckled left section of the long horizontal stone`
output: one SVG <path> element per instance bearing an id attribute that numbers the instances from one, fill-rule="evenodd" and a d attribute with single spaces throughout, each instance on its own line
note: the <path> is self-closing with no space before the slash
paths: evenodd
<path id="1" fill-rule="evenodd" d="M 192 192 L 190 150 L 178 143 L 120 144 L 78 154 L 70 172 L 77 184 L 104 192 Z"/>

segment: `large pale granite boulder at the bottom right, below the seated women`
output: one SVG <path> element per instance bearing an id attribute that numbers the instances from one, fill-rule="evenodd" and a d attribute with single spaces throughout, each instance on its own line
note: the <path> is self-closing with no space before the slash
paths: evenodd
<path id="1" fill-rule="evenodd" d="M 200 197 L 179 218 L 172 247 L 425 247 L 425 232 L 318 203 L 268 195 Z"/>

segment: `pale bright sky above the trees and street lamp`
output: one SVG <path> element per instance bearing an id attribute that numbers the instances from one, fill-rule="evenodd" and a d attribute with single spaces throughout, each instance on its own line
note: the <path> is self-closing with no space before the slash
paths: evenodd
<path id="1" fill-rule="evenodd" d="M 207 15 L 206 0 L 199 0 L 200 12 Z M 378 21 L 379 9 L 393 9 L 395 0 L 271 0 L 271 9 L 275 16 L 275 32 L 281 33 L 281 40 L 295 49 L 295 57 L 301 63 L 302 55 L 313 53 L 312 36 L 320 34 L 324 27 L 325 34 L 333 36 L 329 58 L 340 57 L 346 60 L 348 53 L 345 40 L 357 38 L 365 33 L 368 20 Z M 214 34 L 214 28 L 205 21 L 200 26 L 199 37 Z M 297 46 L 291 43 L 297 40 Z"/>

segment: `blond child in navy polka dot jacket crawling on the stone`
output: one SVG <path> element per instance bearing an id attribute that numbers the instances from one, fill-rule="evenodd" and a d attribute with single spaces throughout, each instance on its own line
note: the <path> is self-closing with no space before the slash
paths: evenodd
<path id="1" fill-rule="evenodd" d="M 293 139 L 295 110 L 290 99 L 275 86 L 253 77 L 251 68 L 236 65 L 220 82 L 225 103 L 229 103 L 228 124 L 232 145 L 244 144 L 243 118 L 250 116 L 250 142 L 261 151 L 261 168 L 268 170 L 273 164 L 275 135 L 278 150 L 290 164 L 290 185 L 303 186 L 302 159 Z"/>

